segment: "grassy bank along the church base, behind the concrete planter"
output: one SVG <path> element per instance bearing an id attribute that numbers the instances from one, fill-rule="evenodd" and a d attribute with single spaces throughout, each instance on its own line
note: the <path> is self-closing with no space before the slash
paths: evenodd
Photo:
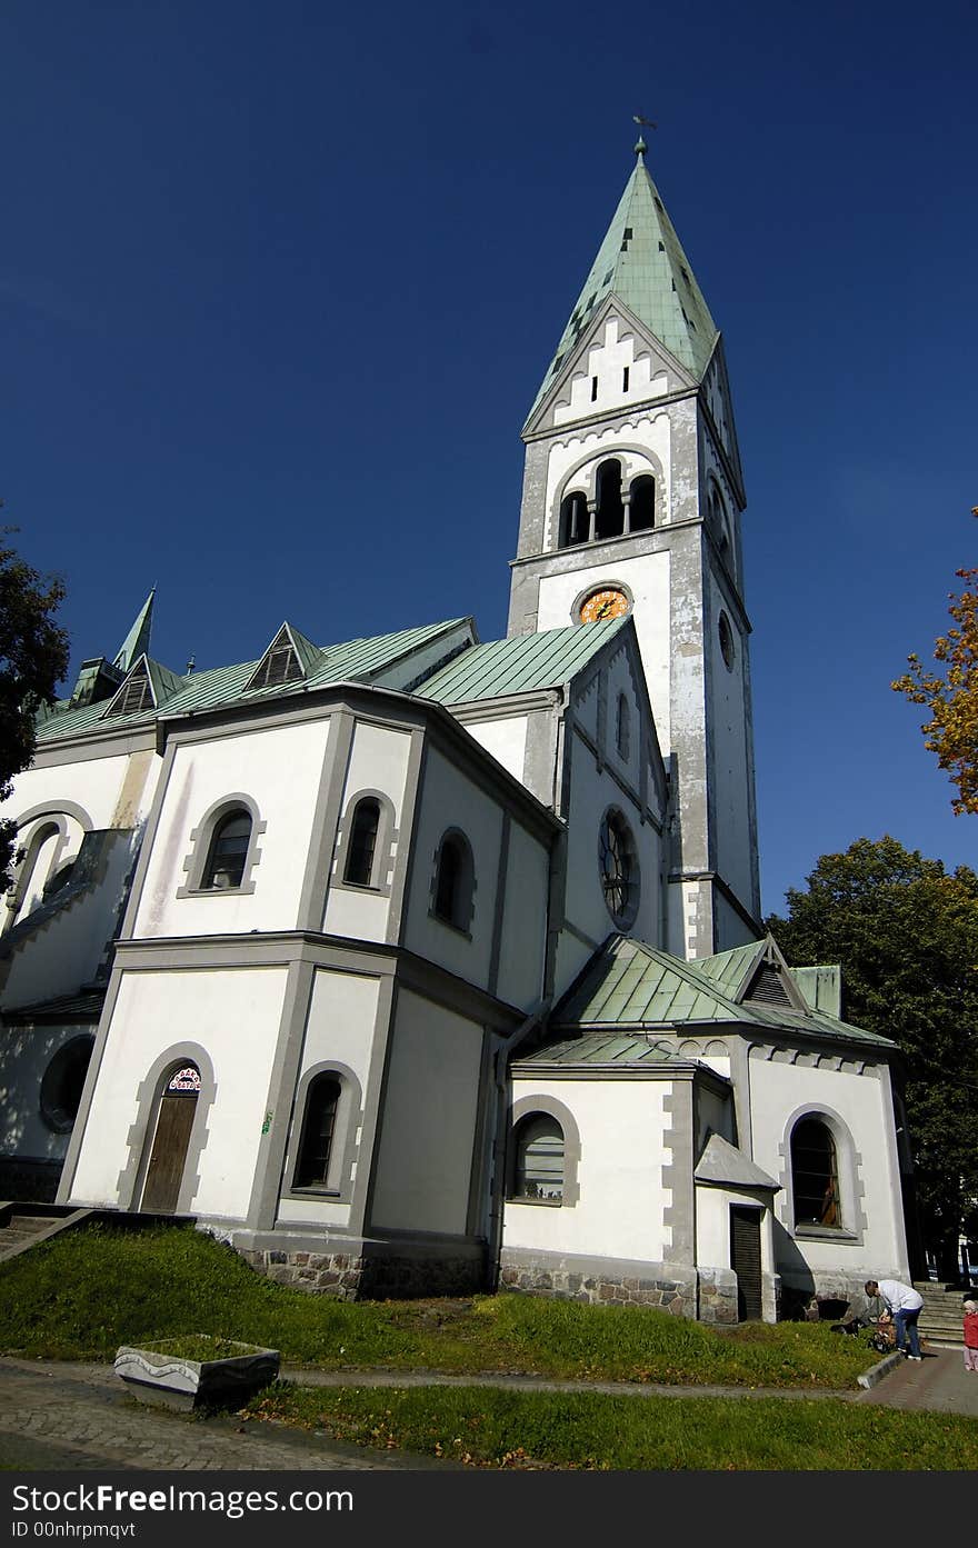
<path id="1" fill-rule="evenodd" d="M 716 1331 L 664 1311 L 525 1296 L 337 1302 L 258 1277 L 192 1228 L 65 1232 L 0 1265 L 0 1305 L 2 1351 L 50 1359 L 111 1359 L 121 1344 L 209 1333 L 325 1370 L 812 1389 L 851 1389 L 874 1359 L 806 1324 Z"/>

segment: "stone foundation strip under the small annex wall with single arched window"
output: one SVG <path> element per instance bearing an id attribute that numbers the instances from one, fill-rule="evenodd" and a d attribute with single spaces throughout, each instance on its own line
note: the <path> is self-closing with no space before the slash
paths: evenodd
<path id="1" fill-rule="evenodd" d="M 500 1289 L 585 1300 L 596 1307 L 661 1307 L 696 1316 L 696 1271 L 673 1263 L 616 1263 L 559 1254 L 504 1251 Z"/>

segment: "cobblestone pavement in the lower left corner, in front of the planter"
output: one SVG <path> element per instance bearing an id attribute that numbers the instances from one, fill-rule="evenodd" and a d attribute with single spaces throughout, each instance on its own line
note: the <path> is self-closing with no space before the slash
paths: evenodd
<path id="1" fill-rule="evenodd" d="M 0 1359 L 0 1466 L 322 1472 L 455 1464 L 260 1421 L 150 1409 L 124 1392 L 111 1365 Z"/>

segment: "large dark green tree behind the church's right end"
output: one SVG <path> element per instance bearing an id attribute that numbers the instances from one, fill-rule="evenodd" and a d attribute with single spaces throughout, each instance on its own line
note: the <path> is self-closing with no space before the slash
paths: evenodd
<path id="1" fill-rule="evenodd" d="M 840 963 L 845 1020 L 899 1043 L 924 1240 L 956 1249 L 978 1224 L 978 875 L 857 839 L 768 927 L 795 966 Z"/>

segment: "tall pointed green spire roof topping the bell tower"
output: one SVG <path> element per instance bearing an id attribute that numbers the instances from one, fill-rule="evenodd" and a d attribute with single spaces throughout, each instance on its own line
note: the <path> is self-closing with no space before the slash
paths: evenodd
<path id="1" fill-rule="evenodd" d="M 529 418 L 608 296 L 617 296 L 696 381 L 703 379 L 716 324 L 641 152 Z"/>

